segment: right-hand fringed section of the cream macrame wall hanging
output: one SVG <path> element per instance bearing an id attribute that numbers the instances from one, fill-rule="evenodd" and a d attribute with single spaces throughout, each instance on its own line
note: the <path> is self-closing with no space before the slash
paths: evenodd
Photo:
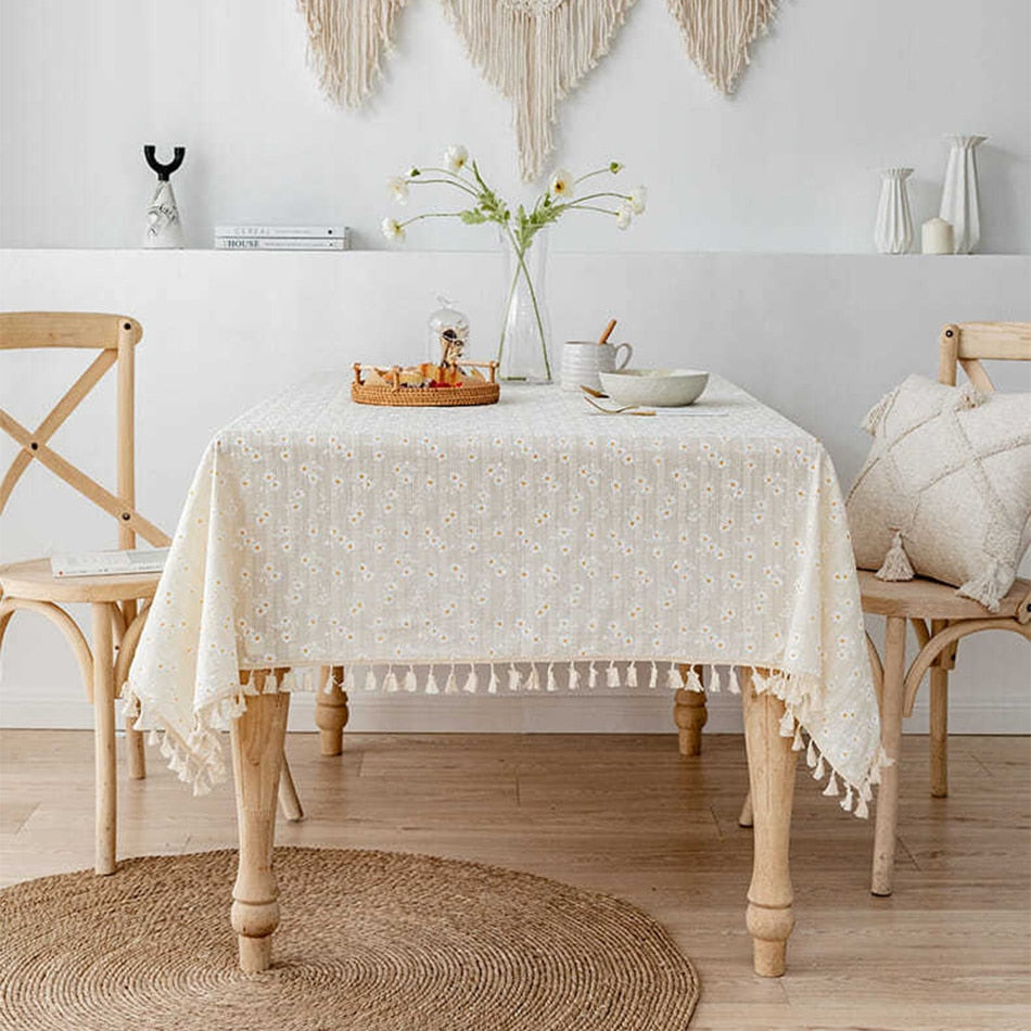
<path id="1" fill-rule="evenodd" d="M 776 0 L 669 0 L 687 55 L 722 93 L 733 93 L 748 48 L 777 10 Z"/>

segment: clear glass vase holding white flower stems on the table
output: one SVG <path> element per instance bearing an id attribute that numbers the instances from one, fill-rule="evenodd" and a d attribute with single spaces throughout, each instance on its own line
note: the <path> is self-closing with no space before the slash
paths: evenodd
<path id="1" fill-rule="evenodd" d="M 550 383 L 551 330 L 544 296 L 547 236 L 538 232 L 523 254 L 505 233 L 501 245 L 508 256 L 508 272 L 497 354 L 498 374 L 509 382 Z"/>

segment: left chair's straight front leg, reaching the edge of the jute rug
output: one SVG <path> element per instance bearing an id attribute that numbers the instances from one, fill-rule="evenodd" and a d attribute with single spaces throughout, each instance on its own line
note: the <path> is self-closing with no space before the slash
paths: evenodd
<path id="1" fill-rule="evenodd" d="M 114 642 L 106 602 L 93 602 L 93 764 L 98 874 L 115 871 L 117 776 L 115 767 Z"/>

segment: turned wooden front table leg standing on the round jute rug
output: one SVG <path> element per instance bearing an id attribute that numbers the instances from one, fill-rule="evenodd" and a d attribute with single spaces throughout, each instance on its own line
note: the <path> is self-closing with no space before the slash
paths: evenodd
<path id="1" fill-rule="evenodd" d="M 254 674 L 260 689 L 264 675 Z M 255 695 L 230 728 L 237 789 L 240 856 L 232 889 L 232 929 L 240 949 L 240 969 L 265 970 L 272 957 L 272 932 L 279 926 L 279 889 L 272 871 L 276 795 L 283 765 L 283 739 L 290 695 Z"/>

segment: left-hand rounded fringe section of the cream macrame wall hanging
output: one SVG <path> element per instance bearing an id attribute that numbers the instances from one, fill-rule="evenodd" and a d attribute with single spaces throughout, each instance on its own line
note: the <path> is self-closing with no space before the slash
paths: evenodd
<path id="1" fill-rule="evenodd" d="M 380 76 L 380 54 L 405 0 L 297 0 L 319 86 L 338 104 L 359 107 Z"/>

